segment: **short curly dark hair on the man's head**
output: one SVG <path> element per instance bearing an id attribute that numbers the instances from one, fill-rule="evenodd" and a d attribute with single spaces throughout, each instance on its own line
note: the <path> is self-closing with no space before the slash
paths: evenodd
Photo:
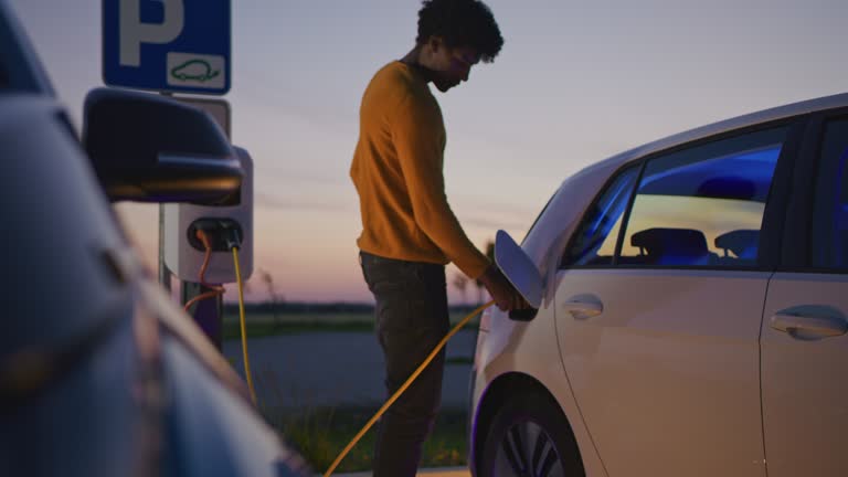
<path id="1" fill-rule="evenodd" d="M 415 41 L 423 44 L 431 36 L 442 36 L 451 47 L 471 46 L 486 63 L 491 63 L 504 46 L 495 15 L 479 0 L 424 0 Z"/>

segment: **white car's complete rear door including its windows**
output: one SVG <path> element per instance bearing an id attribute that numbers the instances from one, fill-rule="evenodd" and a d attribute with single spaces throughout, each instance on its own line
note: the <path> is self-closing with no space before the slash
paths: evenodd
<path id="1" fill-rule="evenodd" d="M 611 477 L 765 475 L 764 218 L 793 135 L 778 124 L 649 157 L 611 180 L 572 237 L 556 332 Z"/>

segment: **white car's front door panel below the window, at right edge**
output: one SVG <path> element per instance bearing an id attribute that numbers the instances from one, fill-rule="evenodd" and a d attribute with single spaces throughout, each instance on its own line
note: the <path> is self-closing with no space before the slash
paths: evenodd
<path id="1" fill-rule="evenodd" d="M 809 309 L 824 307 L 829 310 Z M 768 477 L 848 475 L 848 336 L 794 338 L 772 328 L 771 318 L 787 308 L 845 320 L 848 277 L 778 273 L 768 285 L 762 329 Z"/>

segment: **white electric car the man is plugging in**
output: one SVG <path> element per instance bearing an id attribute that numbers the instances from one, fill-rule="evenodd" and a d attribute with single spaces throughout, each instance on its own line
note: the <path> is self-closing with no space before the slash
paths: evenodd
<path id="1" fill-rule="evenodd" d="M 491 476 L 848 475 L 848 94 L 564 180 L 488 309 L 470 457 Z"/>

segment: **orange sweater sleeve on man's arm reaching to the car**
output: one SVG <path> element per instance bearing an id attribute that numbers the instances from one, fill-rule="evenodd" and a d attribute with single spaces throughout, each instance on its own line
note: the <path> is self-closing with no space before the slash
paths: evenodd
<path id="1" fill-rule="evenodd" d="M 489 259 L 468 240 L 447 203 L 443 176 L 445 132 L 438 106 L 407 94 L 390 124 L 415 222 L 464 274 L 478 278 Z"/>

